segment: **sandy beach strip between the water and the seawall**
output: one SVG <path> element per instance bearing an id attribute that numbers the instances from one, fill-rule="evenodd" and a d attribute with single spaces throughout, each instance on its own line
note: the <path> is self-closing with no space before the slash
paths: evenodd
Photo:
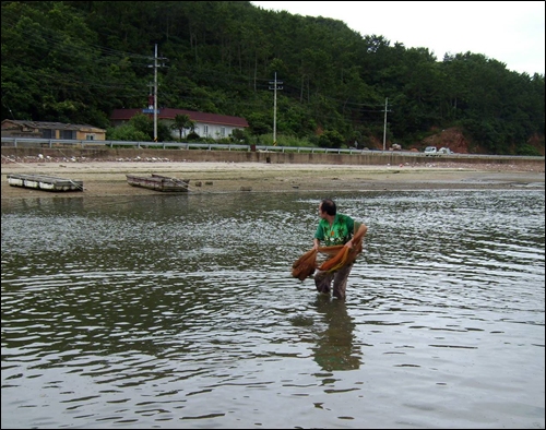
<path id="1" fill-rule="evenodd" d="M 435 165 L 344 166 L 261 163 L 88 162 L 17 163 L 2 158 L 1 198 L 111 196 L 157 193 L 131 187 L 126 174 L 190 179 L 190 192 L 299 192 L 352 190 L 514 189 L 544 190 L 544 166 Z M 47 192 L 12 187 L 9 174 L 82 180 L 83 192 Z"/>

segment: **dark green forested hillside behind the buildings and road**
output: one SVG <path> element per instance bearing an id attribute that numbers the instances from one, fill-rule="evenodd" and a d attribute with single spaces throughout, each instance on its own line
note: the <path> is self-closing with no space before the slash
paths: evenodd
<path id="1" fill-rule="evenodd" d="M 473 152 L 544 155 L 544 75 L 483 55 L 436 58 L 343 22 L 248 1 L 3 1 L 2 120 L 109 128 L 147 105 L 245 117 L 249 139 L 422 147 L 460 130 Z M 434 36 L 431 36 L 434 37 Z M 387 104 L 385 104 L 387 103 Z M 263 139 L 263 138 L 261 138 Z"/>

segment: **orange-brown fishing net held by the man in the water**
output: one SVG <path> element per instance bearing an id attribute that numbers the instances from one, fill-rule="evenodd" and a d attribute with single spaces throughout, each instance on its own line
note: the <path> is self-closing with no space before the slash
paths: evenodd
<path id="1" fill-rule="evenodd" d="M 314 273 L 314 270 L 323 272 L 334 272 L 340 270 L 346 264 L 353 263 L 357 255 L 363 252 L 363 238 L 367 229 L 358 229 L 353 237 L 353 248 L 347 248 L 343 244 L 335 247 L 322 247 L 318 250 L 311 249 L 304 255 L 297 259 L 292 265 L 292 276 L 304 282 L 306 278 Z M 324 253 L 333 255 L 319 265 L 317 262 L 317 254 Z"/>

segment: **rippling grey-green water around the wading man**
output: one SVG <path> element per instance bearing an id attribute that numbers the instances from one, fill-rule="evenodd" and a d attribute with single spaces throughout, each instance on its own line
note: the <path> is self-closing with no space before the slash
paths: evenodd
<path id="1" fill-rule="evenodd" d="M 345 302 L 290 277 L 317 193 L 2 204 L 2 428 L 544 428 L 545 194 L 329 195 Z"/>

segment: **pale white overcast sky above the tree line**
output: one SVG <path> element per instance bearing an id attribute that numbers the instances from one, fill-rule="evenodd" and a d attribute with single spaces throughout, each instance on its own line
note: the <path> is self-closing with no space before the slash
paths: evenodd
<path id="1" fill-rule="evenodd" d="M 363 36 L 443 55 L 482 53 L 518 73 L 544 73 L 544 1 L 251 1 L 293 15 L 343 21 Z"/>

